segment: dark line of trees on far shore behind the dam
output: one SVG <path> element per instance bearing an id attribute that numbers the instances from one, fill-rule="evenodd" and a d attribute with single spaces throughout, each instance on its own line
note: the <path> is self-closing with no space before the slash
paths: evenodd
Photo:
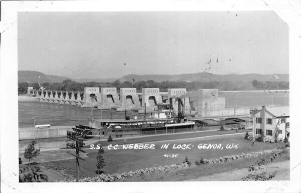
<path id="1" fill-rule="evenodd" d="M 32 86 L 34 89 L 39 89 L 38 82 L 18 82 L 18 93 L 27 93 L 27 87 Z M 76 82 L 66 79 L 63 82 L 49 83 L 44 82 L 41 84 L 46 90 L 62 90 L 62 91 L 83 91 L 84 87 L 116 87 L 126 88 L 131 87 L 132 82 L 120 82 L 115 80 L 113 82 Z M 160 88 L 160 91 L 167 91 L 168 88 L 186 88 L 187 91 L 195 90 L 198 88 L 217 88 L 219 90 L 272 90 L 272 89 L 289 89 L 288 81 L 257 81 L 254 79 L 251 82 L 234 82 L 234 81 L 162 81 L 156 82 L 154 80 L 136 81 L 133 87 L 137 88 L 137 92 L 141 92 L 142 88 Z"/>

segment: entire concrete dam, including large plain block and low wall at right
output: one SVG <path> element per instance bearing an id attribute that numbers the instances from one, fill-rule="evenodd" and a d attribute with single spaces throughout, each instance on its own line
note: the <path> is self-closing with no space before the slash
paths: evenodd
<path id="1" fill-rule="evenodd" d="M 248 108 L 226 108 L 226 99 L 218 96 L 218 89 L 187 92 L 186 88 L 168 88 L 167 92 L 160 92 L 160 88 L 142 88 L 142 92 L 137 92 L 136 88 L 120 88 L 117 93 L 116 87 L 85 87 L 83 92 L 35 90 L 28 87 L 28 94 L 40 102 L 139 113 L 168 110 L 172 104 L 174 113 L 180 109 L 185 115 L 195 117 L 249 114 Z"/>

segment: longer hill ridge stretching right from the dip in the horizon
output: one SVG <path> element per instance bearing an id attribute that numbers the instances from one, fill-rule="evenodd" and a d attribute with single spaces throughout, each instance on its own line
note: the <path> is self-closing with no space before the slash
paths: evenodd
<path id="1" fill-rule="evenodd" d="M 254 79 L 258 81 L 289 81 L 288 74 L 258 74 L 258 73 L 248 73 L 248 74 L 210 74 L 206 72 L 199 72 L 199 73 L 186 73 L 186 74 L 145 74 L 145 75 L 136 75 L 136 74 L 129 74 L 125 75 L 119 80 L 123 81 L 131 81 L 134 78 L 135 81 L 146 81 L 146 80 L 154 80 L 157 82 L 161 81 L 235 81 L 235 82 L 249 82 Z"/>

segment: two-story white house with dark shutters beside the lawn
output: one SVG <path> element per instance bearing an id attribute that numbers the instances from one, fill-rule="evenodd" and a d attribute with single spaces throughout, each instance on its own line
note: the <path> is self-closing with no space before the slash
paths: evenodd
<path id="1" fill-rule="evenodd" d="M 263 136 L 284 139 L 289 130 L 289 107 L 265 107 L 255 113 L 253 119 L 253 137 L 262 134 Z"/>

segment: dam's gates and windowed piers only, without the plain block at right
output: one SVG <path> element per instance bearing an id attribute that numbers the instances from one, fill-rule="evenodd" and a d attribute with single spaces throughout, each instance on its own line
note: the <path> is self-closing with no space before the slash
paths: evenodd
<path id="1" fill-rule="evenodd" d="M 160 92 L 159 88 L 142 88 L 142 92 L 137 92 L 136 88 L 120 88 L 117 93 L 116 87 L 85 87 L 84 91 L 52 91 L 35 90 L 28 87 L 28 94 L 35 96 L 39 102 L 55 104 L 77 105 L 81 107 L 91 107 L 98 109 L 116 109 L 117 111 L 138 111 L 144 113 L 158 110 L 158 104 L 169 104 L 172 98 L 173 105 L 178 106 L 181 98 L 182 108 L 191 111 L 189 98 L 184 96 L 186 88 L 169 88 L 168 92 Z M 177 112 L 178 108 L 174 108 Z"/>

